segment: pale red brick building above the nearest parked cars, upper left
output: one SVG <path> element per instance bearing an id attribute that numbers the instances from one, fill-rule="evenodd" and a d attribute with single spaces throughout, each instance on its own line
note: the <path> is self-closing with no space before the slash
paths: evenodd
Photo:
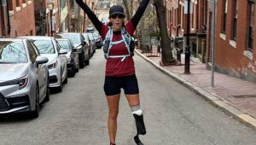
<path id="1" fill-rule="evenodd" d="M 7 0 L 10 37 L 35 35 L 33 0 Z"/>

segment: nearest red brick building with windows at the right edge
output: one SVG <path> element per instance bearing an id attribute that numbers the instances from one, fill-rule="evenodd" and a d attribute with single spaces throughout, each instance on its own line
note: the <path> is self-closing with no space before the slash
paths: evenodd
<path id="1" fill-rule="evenodd" d="M 256 1 L 218 0 L 217 70 L 256 83 Z"/>

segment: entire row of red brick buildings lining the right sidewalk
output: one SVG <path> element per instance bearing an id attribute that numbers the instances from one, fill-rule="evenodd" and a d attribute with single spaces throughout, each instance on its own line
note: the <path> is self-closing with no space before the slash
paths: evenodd
<path id="1" fill-rule="evenodd" d="M 212 0 L 190 0 L 191 55 L 211 62 Z M 256 82 L 255 0 L 218 0 L 216 9 L 216 70 L 230 76 Z M 166 21 L 170 37 L 183 47 L 186 31 L 184 0 L 165 0 Z M 207 37 L 206 37 L 207 36 Z M 209 67 L 210 63 L 207 63 Z"/>

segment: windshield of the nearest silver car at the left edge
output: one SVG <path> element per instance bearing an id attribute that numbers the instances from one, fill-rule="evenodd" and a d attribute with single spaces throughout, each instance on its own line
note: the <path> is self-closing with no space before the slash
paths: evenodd
<path id="1" fill-rule="evenodd" d="M 27 63 L 27 53 L 21 41 L 0 41 L 0 63 Z"/>

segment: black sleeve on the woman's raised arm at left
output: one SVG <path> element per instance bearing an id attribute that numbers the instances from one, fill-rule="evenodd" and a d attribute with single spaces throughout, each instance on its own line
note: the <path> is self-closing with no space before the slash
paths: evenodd
<path id="1" fill-rule="evenodd" d="M 96 27 L 96 30 L 101 33 L 102 32 L 102 22 L 96 17 L 87 4 L 83 2 L 83 0 L 76 0 L 79 6 L 84 10 L 84 12 L 88 15 L 90 21 Z"/>

